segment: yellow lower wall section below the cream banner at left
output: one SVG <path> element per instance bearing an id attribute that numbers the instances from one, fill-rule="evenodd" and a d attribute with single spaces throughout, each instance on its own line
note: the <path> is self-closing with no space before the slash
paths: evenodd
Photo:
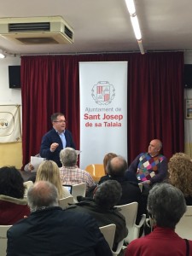
<path id="1" fill-rule="evenodd" d="M 22 166 L 22 143 L 1 143 L 0 144 L 0 167 Z"/>

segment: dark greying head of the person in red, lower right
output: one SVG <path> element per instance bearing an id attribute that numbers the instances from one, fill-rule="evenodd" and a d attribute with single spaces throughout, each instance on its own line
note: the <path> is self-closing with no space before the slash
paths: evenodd
<path id="1" fill-rule="evenodd" d="M 171 184 L 159 183 L 149 191 L 148 212 L 158 226 L 175 229 L 185 211 L 183 193 Z"/>

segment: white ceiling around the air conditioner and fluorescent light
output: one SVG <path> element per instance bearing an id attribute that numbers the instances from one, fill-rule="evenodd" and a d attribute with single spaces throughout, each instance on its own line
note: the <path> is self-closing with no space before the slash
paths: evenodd
<path id="1" fill-rule="evenodd" d="M 73 27 L 74 44 L 20 45 L 0 37 L 16 55 L 139 51 L 125 0 L 6 0 L 0 18 L 60 15 Z M 192 50 L 191 0 L 135 0 L 143 48 Z"/>

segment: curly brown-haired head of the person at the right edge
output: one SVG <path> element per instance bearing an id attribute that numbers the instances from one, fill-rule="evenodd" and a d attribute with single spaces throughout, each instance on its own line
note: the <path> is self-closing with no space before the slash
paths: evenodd
<path id="1" fill-rule="evenodd" d="M 192 161 L 188 154 L 176 153 L 168 162 L 170 183 L 183 192 L 187 206 L 192 206 Z"/>

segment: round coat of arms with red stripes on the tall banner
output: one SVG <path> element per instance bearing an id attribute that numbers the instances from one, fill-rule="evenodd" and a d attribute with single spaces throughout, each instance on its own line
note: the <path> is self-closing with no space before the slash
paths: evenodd
<path id="1" fill-rule="evenodd" d="M 100 81 L 93 86 L 91 96 L 96 104 L 108 105 L 113 101 L 113 97 L 115 96 L 114 86 L 107 81 Z"/>

